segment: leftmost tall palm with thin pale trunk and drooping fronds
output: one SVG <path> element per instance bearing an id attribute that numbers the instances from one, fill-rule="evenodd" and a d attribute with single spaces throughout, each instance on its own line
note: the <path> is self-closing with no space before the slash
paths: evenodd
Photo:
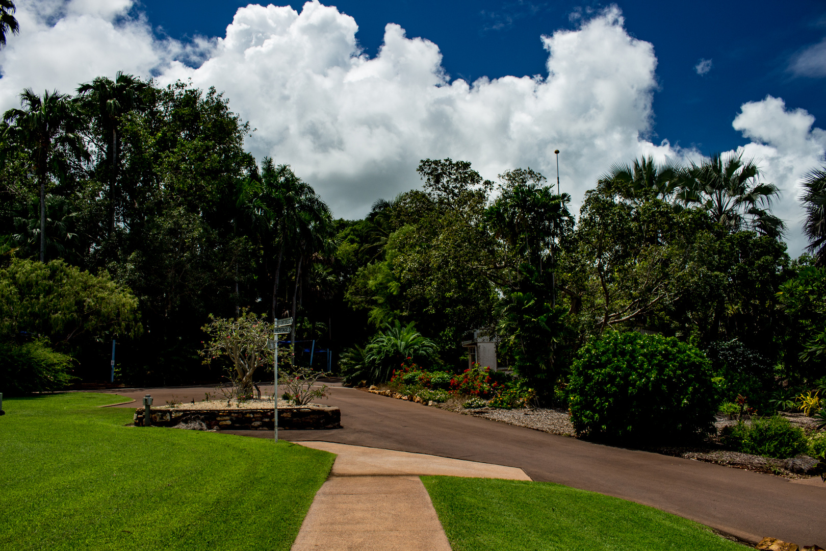
<path id="1" fill-rule="evenodd" d="M 45 262 L 46 181 L 68 170 L 70 158 L 88 160 L 79 131 L 83 128 L 77 103 L 69 96 L 46 91 L 43 97 L 26 88 L 20 94 L 23 109 L 3 114 L 7 142 L 29 151 L 40 184 L 40 262 Z"/>

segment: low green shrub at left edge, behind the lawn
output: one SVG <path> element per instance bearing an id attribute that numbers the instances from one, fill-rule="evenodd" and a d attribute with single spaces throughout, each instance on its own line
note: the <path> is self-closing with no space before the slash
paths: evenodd
<path id="1" fill-rule="evenodd" d="M 71 366 L 72 358 L 50 349 L 45 339 L 0 342 L 0 392 L 21 396 L 60 390 L 72 380 Z"/>

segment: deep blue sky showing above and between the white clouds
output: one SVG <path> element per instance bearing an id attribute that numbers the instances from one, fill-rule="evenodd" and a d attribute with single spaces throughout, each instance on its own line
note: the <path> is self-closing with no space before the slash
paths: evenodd
<path id="1" fill-rule="evenodd" d="M 224 36 L 238 7 L 235 0 L 143 0 L 156 32 L 188 40 Z M 695 146 L 703 154 L 731 150 L 748 140 L 732 127 L 743 102 L 771 94 L 790 108 L 802 107 L 819 122 L 826 117 L 826 78 L 798 76 L 790 63 L 801 50 L 826 36 L 826 3 L 794 2 L 615 2 L 625 28 L 651 42 L 657 55 L 651 138 Z M 607 4 L 599 2 L 329 2 L 354 17 L 356 35 L 369 55 L 376 55 L 388 22 L 407 36 L 432 40 L 444 55 L 452 78 L 473 81 L 487 76 L 547 76 L 548 58 L 539 36 L 577 26 Z M 286 4 L 278 4 L 286 5 Z M 301 11 L 303 2 L 290 2 Z M 695 66 L 710 59 L 710 70 Z"/>

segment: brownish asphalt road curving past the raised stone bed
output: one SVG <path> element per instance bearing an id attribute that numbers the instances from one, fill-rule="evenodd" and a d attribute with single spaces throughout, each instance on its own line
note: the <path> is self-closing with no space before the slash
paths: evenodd
<path id="1" fill-rule="evenodd" d="M 139 405 L 140 397 L 151 394 L 154 405 L 159 406 L 172 396 L 178 401 L 199 401 L 207 391 L 211 388 L 109 392 L 135 397 Z M 333 387 L 330 398 L 321 403 L 341 408 L 344 428 L 281 430 L 279 438 L 356 444 L 518 467 L 536 481 L 636 501 L 754 543 L 771 536 L 801 547 L 826 547 L 826 483 L 819 477 L 816 484 L 789 482 L 737 468 L 549 435 L 352 388 Z M 273 437 L 270 431 L 239 430 L 230 434 Z"/>

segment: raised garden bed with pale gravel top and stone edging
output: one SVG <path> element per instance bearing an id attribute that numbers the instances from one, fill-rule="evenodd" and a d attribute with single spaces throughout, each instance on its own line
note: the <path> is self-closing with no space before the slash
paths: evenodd
<path id="1" fill-rule="evenodd" d="M 246 401 L 227 407 L 225 401 L 202 401 L 150 408 L 152 425 L 201 430 L 273 430 L 273 402 Z M 144 408 L 135 408 L 135 426 L 144 426 Z M 335 406 L 278 401 L 279 430 L 340 429 Z"/>

